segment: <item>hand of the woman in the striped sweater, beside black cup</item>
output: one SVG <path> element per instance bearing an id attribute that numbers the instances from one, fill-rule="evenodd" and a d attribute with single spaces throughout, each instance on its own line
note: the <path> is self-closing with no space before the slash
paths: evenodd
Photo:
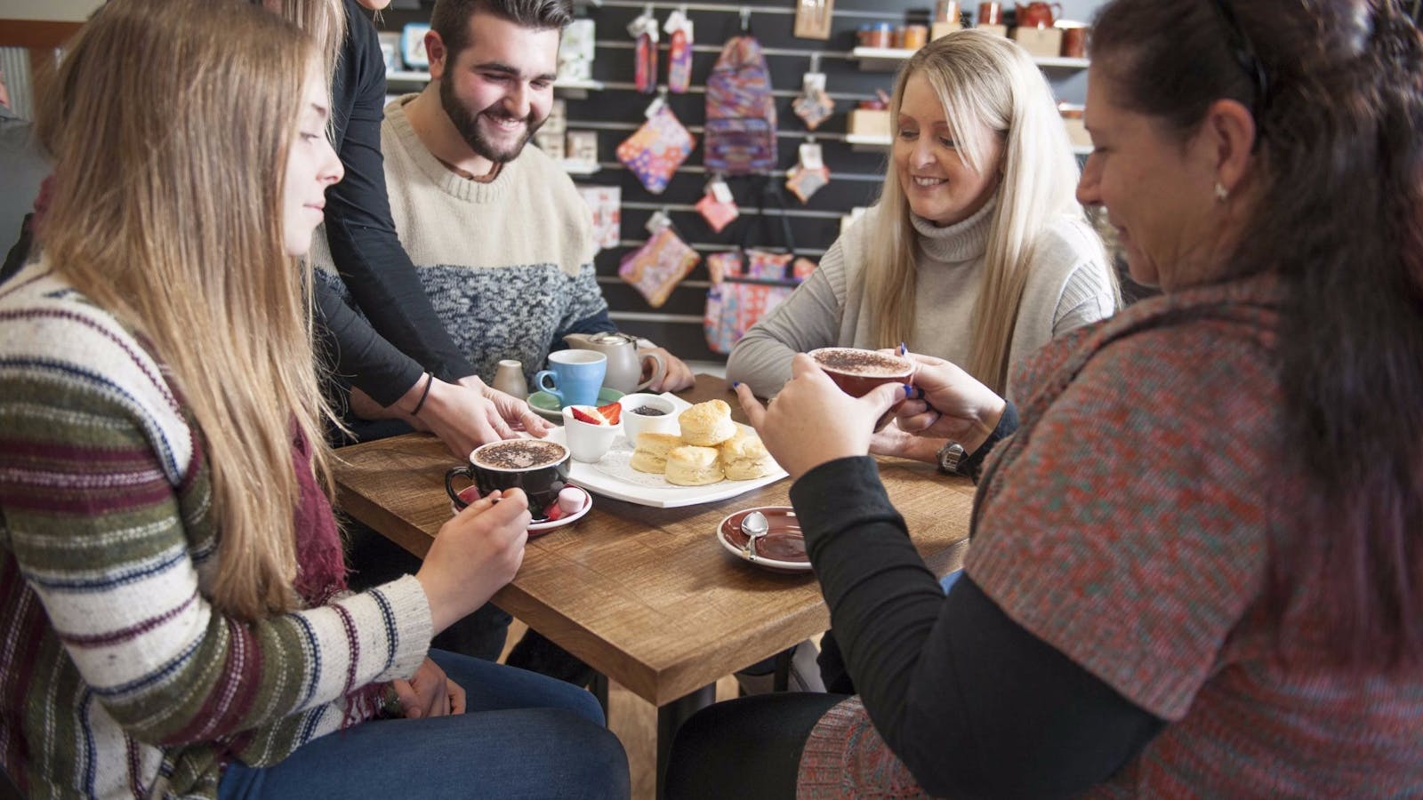
<path id="1" fill-rule="evenodd" d="M 440 527 L 416 578 L 440 633 L 514 579 L 528 541 L 528 495 L 491 491 Z"/>

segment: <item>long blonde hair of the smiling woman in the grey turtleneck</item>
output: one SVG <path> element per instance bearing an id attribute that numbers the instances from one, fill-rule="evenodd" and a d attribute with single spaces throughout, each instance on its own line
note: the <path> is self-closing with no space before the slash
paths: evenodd
<path id="1" fill-rule="evenodd" d="M 959 157 L 970 169 L 982 174 L 999 168 L 988 162 L 989 142 L 982 141 L 975 121 L 995 131 L 1003 145 L 985 279 L 973 303 L 973 342 L 969 360 L 962 364 L 1002 393 L 1035 241 L 1044 225 L 1062 215 L 1083 219 L 1074 195 L 1077 161 L 1047 81 L 1012 41 L 965 30 L 915 53 L 901 67 L 889 102 L 895 137 L 905 84 L 916 74 L 924 75 L 943 104 Z M 871 232 L 869 245 L 864 280 L 871 330 L 878 337 L 877 346 L 892 347 L 911 339 L 918 278 L 909 201 L 894 168 L 885 171 L 879 225 Z"/>

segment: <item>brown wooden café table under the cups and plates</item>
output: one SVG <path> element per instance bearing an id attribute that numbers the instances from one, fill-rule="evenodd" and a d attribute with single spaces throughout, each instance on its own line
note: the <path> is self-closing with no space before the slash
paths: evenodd
<path id="1" fill-rule="evenodd" d="M 743 419 L 719 377 L 697 376 L 682 397 L 721 397 Z M 428 434 L 344 447 L 336 464 L 340 507 L 424 557 L 450 518 L 444 473 L 455 464 Z M 894 458 L 881 460 L 879 471 L 929 568 L 938 575 L 956 569 L 972 484 Z M 790 504 L 788 491 L 783 480 L 683 508 L 596 497 L 579 522 L 529 540 L 519 574 L 494 595 L 499 608 L 659 706 L 659 784 L 670 733 L 707 702 L 704 688 L 830 626 L 811 574 L 756 568 L 723 549 L 714 534 L 739 508 Z"/>

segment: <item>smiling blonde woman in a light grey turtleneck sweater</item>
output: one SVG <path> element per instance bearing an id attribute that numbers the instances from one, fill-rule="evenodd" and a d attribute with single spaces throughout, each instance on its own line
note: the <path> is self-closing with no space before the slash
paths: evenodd
<path id="1" fill-rule="evenodd" d="M 929 43 L 899 70 L 889 114 L 879 204 L 727 362 L 763 397 L 790 380 L 797 352 L 901 343 L 1010 393 L 1023 356 L 1116 309 L 1116 279 L 1073 198 L 1077 162 L 1020 47 L 976 30 Z M 877 441 L 926 461 L 938 446 Z"/>

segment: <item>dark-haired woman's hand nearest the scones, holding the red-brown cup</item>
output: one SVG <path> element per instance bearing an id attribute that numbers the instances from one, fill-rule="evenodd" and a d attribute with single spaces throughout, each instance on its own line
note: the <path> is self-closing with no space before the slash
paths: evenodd
<path id="1" fill-rule="evenodd" d="M 736 394 L 771 457 L 797 480 L 827 461 L 869 453 L 875 423 L 904 400 L 905 390 L 887 383 L 864 397 L 851 397 L 810 356 L 797 353 L 791 380 L 768 406 L 763 407 L 744 383 Z"/>

